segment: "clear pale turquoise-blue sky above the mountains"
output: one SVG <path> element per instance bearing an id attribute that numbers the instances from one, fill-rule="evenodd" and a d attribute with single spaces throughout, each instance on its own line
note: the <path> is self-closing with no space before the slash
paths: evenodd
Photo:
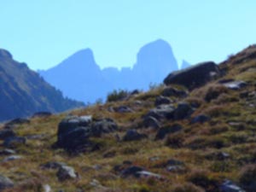
<path id="1" fill-rule="evenodd" d="M 0 0 L 0 47 L 32 69 L 84 48 L 122 67 L 162 38 L 179 62 L 218 62 L 256 43 L 255 19 L 255 0 Z"/>

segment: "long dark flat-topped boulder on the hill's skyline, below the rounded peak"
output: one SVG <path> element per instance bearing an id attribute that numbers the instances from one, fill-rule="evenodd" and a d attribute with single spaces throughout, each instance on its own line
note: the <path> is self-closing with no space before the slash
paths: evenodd
<path id="1" fill-rule="evenodd" d="M 191 90 L 218 77 L 220 77 L 218 65 L 212 61 L 207 61 L 170 73 L 164 80 L 164 83 L 167 85 L 180 84 Z"/>

